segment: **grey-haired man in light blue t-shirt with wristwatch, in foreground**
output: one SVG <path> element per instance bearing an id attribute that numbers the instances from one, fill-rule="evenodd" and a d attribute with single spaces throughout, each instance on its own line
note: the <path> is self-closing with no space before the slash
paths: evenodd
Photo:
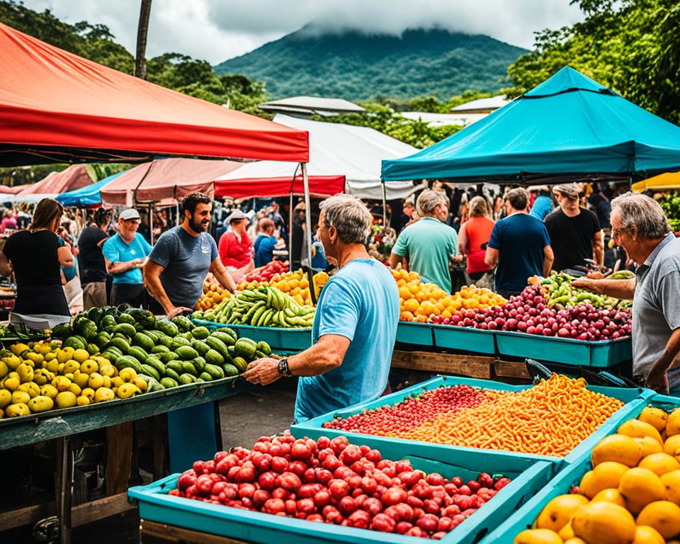
<path id="1" fill-rule="evenodd" d="M 387 385 L 399 322 L 399 290 L 390 270 L 365 248 L 372 217 L 356 197 L 321 205 L 319 239 L 339 271 L 324 286 L 312 327 L 312 347 L 277 361 L 248 365 L 244 378 L 268 385 L 300 376 L 295 421 L 377 399 Z"/>

